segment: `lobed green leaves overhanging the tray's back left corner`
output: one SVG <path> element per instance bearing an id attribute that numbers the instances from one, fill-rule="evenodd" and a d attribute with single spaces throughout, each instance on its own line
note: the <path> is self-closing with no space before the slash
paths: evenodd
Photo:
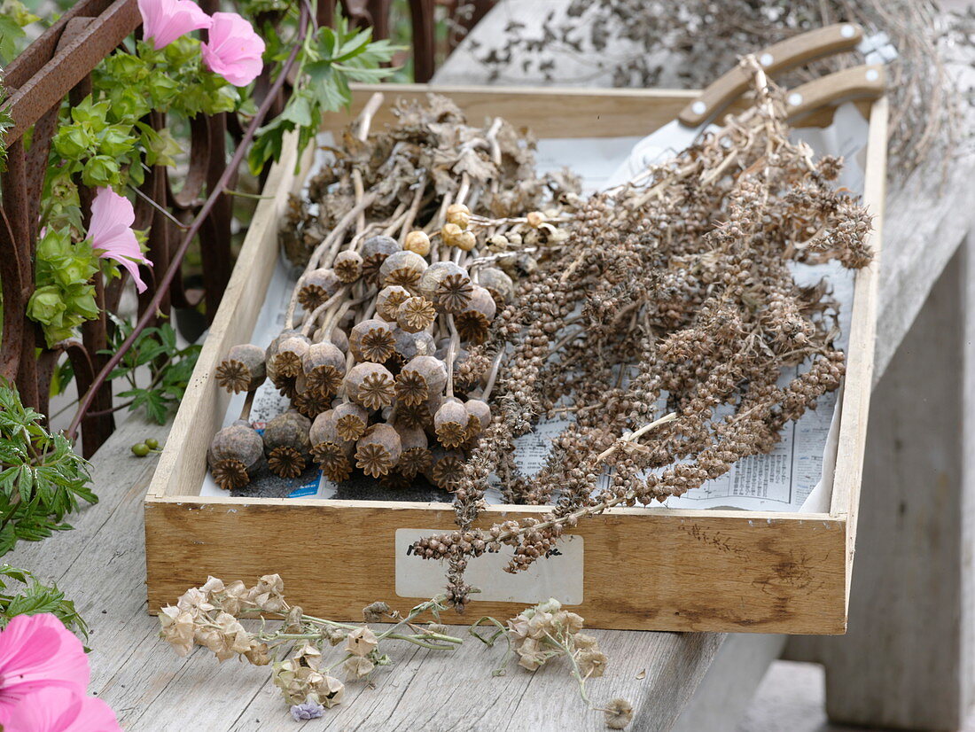
<path id="1" fill-rule="evenodd" d="M 378 82 L 395 69 L 383 68 L 401 48 L 389 41 L 373 41 L 371 28 L 350 29 L 339 16 L 336 27 L 319 28 L 301 50 L 297 82 L 285 110 L 264 125 L 248 152 L 251 173 L 259 174 L 269 160 L 280 160 L 285 134 L 298 131 L 298 151 L 315 138 L 322 115 L 348 106 L 352 100 L 350 82 Z M 282 47 L 272 56 L 284 58 Z"/>

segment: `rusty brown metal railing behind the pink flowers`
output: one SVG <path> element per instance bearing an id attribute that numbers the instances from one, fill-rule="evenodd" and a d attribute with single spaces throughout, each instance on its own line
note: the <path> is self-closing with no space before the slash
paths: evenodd
<path id="1" fill-rule="evenodd" d="M 391 0 L 342 2 L 345 14 L 357 24 L 372 25 L 377 38 L 388 37 L 390 4 Z M 434 70 L 434 5 L 435 0 L 409 0 L 418 81 L 428 80 Z M 203 0 L 201 6 L 208 13 L 218 10 L 217 0 Z M 319 24 L 331 24 L 334 6 L 335 0 L 320 0 Z M 302 5 L 302 14 L 304 9 Z M 112 327 L 106 314 L 117 310 L 125 280 L 106 284 L 100 274 L 96 275 L 99 318 L 81 327 L 80 338 L 61 341 L 53 348 L 47 347 L 38 324 L 26 317 L 26 308 L 34 290 L 41 195 L 61 102 L 65 97 L 80 101 L 90 93 L 90 74 L 98 62 L 136 31 L 139 23 L 137 0 L 79 0 L 10 63 L 3 79 L 10 93 L 5 106 L 14 125 L 5 139 L 7 170 L 0 174 L 0 375 L 17 384 L 24 404 L 47 414 L 54 370 L 66 354 L 81 399 L 72 429 L 80 425 L 86 456 L 93 454 L 114 429 L 111 381 L 105 374 L 116 359 L 102 352 Z M 283 84 L 283 78 L 274 85 L 266 75 L 258 79 L 256 101 L 262 109 L 274 114 L 283 108 Z M 158 113 L 147 121 L 157 130 L 165 125 Z M 28 130 L 32 130 L 29 146 L 23 139 Z M 140 186 L 144 195 L 136 204 L 135 227 L 149 229 L 147 256 L 153 267 L 147 280 L 149 289 L 139 296 L 138 329 L 151 324 L 157 312 L 169 314 L 172 307 L 195 307 L 202 301 L 209 317 L 216 311 L 233 258 L 231 200 L 214 192 L 224 185 L 234 187 L 241 152 L 233 156 L 232 170 L 228 171 L 228 132 L 238 145 L 245 136 L 232 115 L 201 115 L 191 121 L 191 162 L 178 193 L 173 191 L 165 166 L 154 166 L 145 175 Z M 201 197 L 204 191 L 211 194 L 207 200 Z M 86 223 L 91 200 L 92 192 L 81 187 Z M 174 218 L 194 220 L 201 210 L 206 216 L 190 232 L 181 231 L 174 222 Z M 203 286 L 185 289 L 179 266 L 188 238 L 197 233 L 206 242 L 200 247 Z"/>

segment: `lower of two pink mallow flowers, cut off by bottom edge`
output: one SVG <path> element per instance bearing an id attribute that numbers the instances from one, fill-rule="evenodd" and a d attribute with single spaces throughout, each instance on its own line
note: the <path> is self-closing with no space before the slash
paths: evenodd
<path id="1" fill-rule="evenodd" d="M 4 732 L 122 732 L 112 708 L 97 697 L 49 686 L 23 698 Z"/>

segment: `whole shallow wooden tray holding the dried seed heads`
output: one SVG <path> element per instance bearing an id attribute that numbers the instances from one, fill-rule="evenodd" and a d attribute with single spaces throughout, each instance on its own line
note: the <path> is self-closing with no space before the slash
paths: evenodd
<path id="1" fill-rule="evenodd" d="M 324 129 L 341 129 L 373 91 L 357 87 L 351 112 L 329 115 Z M 501 116 L 530 127 L 539 137 L 645 135 L 674 119 L 697 94 L 422 85 L 385 86 L 382 91 L 387 101 L 428 91 L 451 96 L 474 123 Z M 388 108 L 384 105 L 377 115 L 375 129 L 390 120 Z M 879 253 L 886 99 L 867 111 L 865 199 L 875 215 L 872 241 Z M 215 366 L 232 345 L 251 338 L 279 255 L 279 217 L 288 194 L 300 190 L 310 159 L 306 153 L 301 172 L 295 173 L 292 138 L 270 172 L 264 192 L 273 199 L 261 201 L 254 213 L 145 497 L 150 612 L 202 584 L 208 574 L 250 584 L 262 574 L 277 572 L 292 603 L 335 620 L 361 620 L 363 606 L 376 599 L 407 608 L 429 598 L 397 595 L 395 534 L 400 528 L 452 529 L 449 504 L 199 495 L 207 446 L 222 425 L 229 401 L 229 395 L 217 388 Z M 571 609 L 585 617 L 587 625 L 643 631 L 845 631 L 873 371 L 877 282 L 875 259 L 856 276 L 829 513 L 617 508 L 581 521 L 573 529 L 584 547 L 578 559 L 581 601 Z M 489 525 L 545 510 L 497 506 L 482 516 Z M 456 616 L 456 621 L 451 617 L 450 622 L 484 614 L 507 618 L 523 607 L 524 603 L 474 601 L 465 616 Z"/>

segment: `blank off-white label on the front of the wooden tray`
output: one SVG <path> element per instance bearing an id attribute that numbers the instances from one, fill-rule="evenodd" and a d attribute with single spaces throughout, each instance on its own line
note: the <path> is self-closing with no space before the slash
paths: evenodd
<path id="1" fill-rule="evenodd" d="M 400 597 L 433 597 L 444 592 L 445 561 L 420 559 L 412 544 L 432 529 L 396 529 L 396 594 Z M 535 604 L 555 597 L 566 605 L 582 603 L 582 537 L 572 534 L 560 539 L 552 555 L 535 561 L 526 571 L 504 571 L 512 550 L 502 547 L 471 559 L 464 575 L 468 584 L 481 590 L 475 600 Z"/>

